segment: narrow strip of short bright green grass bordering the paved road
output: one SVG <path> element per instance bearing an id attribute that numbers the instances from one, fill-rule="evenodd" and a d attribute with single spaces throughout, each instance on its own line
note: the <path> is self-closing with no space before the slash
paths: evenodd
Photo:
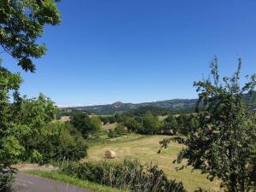
<path id="1" fill-rule="evenodd" d="M 53 179 L 55 181 L 73 184 L 75 186 L 90 189 L 97 192 L 129 192 L 129 190 L 122 190 L 122 189 L 114 189 L 99 183 L 93 183 L 90 181 L 84 181 L 78 178 L 69 177 L 60 172 L 43 172 L 43 171 L 26 171 L 25 173 L 45 177 L 49 179 Z"/>

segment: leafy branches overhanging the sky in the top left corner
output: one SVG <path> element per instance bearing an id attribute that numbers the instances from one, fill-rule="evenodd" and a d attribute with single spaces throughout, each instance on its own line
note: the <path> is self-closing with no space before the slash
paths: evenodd
<path id="1" fill-rule="evenodd" d="M 36 43 L 37 38 L 42 36 L 46 24 L 57 25 L 60 22 L 61 15 L 54 0 L 2 0 L 0 44 L 20 67 L 34 72 L 32 59 L 38 59 L 46 52 L 44 44 Z"/>

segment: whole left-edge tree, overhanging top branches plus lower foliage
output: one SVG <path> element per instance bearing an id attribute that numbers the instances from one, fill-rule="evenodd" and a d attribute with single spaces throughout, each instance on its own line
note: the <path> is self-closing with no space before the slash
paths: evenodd
<path id="1" fill-rule="evenodd" d="M 60 20 L 54 0 L 1 0 L 1 47 L 25 71 L 34 72 L 35 65 L 32 60 L 40 58 L 46 52 L 45 45 L 37 44 L 36 40 L 43 34 L 46 24 L 56 25 Z M 1 61 L 0 58 L 0 64 Z M 25 151 L 14 130 L 25 135 L 29 131 L 27 125 L 16 123 L 15 114 L 19 113 L 21 101 L 18 92 L 20 83 L 19 74 L 10 73 L 0 65 L 0 190 L 5 192 L 11 190 L 13 181 L 14 172 L 9 166 L 20 160 Z M 4 171 L 6 167 L 10 172 Z"/>

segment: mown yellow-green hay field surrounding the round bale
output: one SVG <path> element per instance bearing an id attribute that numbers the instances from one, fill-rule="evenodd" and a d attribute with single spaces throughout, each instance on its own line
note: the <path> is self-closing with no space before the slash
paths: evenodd
<path id="1" fill-rule="evenodd" d="M 183 148 L 182 145 L 171 143 L 169 148 L 163 150 L 161 154 L 157 154 L 160 148 L 159 142 L 165 137 L 131 134 L 121 139 L 108 141 L 108 143 L 96 143 L 90 146 L 88 158 L 85 160 L 105 160 L 105 151 L 111 149 L 117 153 L 117 158 L 113 161 L 123 160 L 125 157 L 137 157 L 142 163 L 157 164 L 168 177 L 182 181 L 189 191 L 194 191 L 198 187 L 219 191 L 218 181 L 209 182 L 206 175 L 202 175 L 201 172 L 191 172 L 191 167 L 176 171 L 176 168 L 181 165 L 173 164 L 172 161 L 177 158 L 178 152 Z"/>

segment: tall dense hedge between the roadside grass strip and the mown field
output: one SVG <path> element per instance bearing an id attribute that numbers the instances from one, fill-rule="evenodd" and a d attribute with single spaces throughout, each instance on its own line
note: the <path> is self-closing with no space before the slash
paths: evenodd
<path id="1" fill-rule="evenodd" d="M 168 180 L 157 166 L 142 166 L 138 160 L 126 159 L 123 163 L 71 163 L 62 172 L 68 176 L 119 189 L 131 189 L 134 192 L 186 191 L 182 183 Z"/>

